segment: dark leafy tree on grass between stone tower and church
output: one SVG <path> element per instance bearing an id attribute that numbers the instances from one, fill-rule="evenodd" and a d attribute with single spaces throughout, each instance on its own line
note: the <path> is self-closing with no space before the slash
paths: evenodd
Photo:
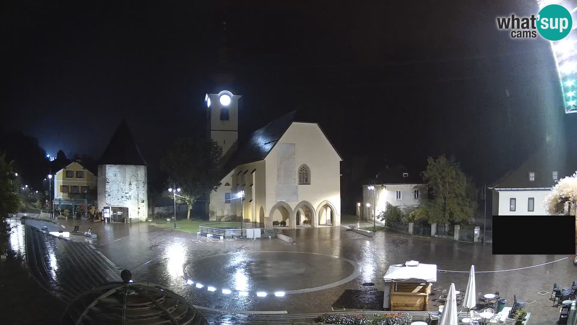
<path id="1" fill-rule="evenodd" d="M 190 210 L 201 195 L 218 189 L 222 179 L 222 147 L 215 141 L 178 138 L 160 160 L 160 169 L 167 175 L 167 187 L 179 187 L 177 202 L 188 204 Z M 164 191 L 164 195 L 173 194 Z"/>

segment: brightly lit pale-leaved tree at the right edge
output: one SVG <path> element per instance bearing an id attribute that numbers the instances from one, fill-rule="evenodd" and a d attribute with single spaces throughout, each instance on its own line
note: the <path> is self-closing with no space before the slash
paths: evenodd
<path id="1" fill-rule="evenodd" d="M 573 215 L 577 221 L 577 172 L 572 176 L 560 179 L 543 202 L 545 212 L 549 215 Z M 577 223 L 575 224 L 577 241 Z"/>

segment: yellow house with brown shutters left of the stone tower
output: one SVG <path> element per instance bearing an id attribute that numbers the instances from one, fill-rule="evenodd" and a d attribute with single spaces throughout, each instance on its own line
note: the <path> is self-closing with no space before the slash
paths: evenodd
<path id="1" fill-rule="evenodd" d="M 71 209 L 81 203 L 93 204 L 91 190 L 96 189 L 96 176 L 74 161 L 54 175 L 54 210 Z"/>

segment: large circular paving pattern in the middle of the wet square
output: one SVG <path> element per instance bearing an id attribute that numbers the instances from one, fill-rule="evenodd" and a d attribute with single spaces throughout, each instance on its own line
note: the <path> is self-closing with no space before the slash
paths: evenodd
<path id="1" fill-rule="evenodd" d="M 197 258 L 185 278 L 203 286 L 285 294 L 328 289 L 359 275 L 355 261 L 307 252 L 237 252 Z"/>

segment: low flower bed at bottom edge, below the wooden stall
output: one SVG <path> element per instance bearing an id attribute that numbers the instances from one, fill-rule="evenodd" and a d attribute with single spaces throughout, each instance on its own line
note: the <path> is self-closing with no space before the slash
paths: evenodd
<path id="1" fill-rule="evenodd" d="M 372 324 L 372 325 L 403 325 L 410 324 L 413 316 L 409 313 L 385 313 L 373 315 L 343 315 L 325 313 L 317 317 L 317 323 L 323 324 Z"/>

